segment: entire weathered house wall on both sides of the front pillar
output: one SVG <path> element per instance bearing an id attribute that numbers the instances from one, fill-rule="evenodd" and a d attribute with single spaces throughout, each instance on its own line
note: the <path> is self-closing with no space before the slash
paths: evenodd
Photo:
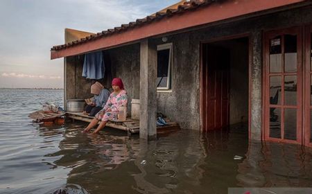
<path id="1" fill-rule="evenodd" d="M 200 130 L 200 43 L 221 37 L 248 34 L 251 45 L 250 138 L 261 140 L 263 30 L 311 23 L 312 8 L 306 7 L 242 21 L 215 24 L 188 33 L 167 35 L 166 43 L 173 43 L 173 85 L 171 92 L 157 93 L 157 111 L 177 121 L 182 128 Z M 153 41 L 155 44 L 164 44 L 161 37 Z M 113 77 L 123 78 L 130 100 L 139 98 L 139 44 L 110 49 L 108 52 L 112 60 Z M 79 85 L 84 89 L 87 88 L 86 82 L 80 82 Z"/>

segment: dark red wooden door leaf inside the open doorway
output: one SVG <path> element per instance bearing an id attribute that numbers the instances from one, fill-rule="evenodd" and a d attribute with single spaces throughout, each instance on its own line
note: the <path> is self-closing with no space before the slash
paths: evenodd
<path id="1" fill-rule="evenodd" d="M 214 130 L 229 125 L 229 50 L 202 45 L 202 127 Z"/>

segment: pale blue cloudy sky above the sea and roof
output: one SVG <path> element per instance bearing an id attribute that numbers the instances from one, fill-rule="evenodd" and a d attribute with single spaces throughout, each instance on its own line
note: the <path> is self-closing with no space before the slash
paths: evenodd
<path id="1" fill-rule="evenodd" d="M 64 28 L 98 33 L 179 0 L 0 0 L 0 88 L 63 88 Z"/>

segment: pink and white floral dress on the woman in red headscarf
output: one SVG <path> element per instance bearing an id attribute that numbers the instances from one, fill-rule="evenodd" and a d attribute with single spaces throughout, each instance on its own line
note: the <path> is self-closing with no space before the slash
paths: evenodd
<path id="1" fill-rule="evenodd" d="M 98 114 L 96 114 L 95 118 L 102 121 L 108 121 L 109 119 L 117 119 L 117 115 L 119 113 L 119 107 L 127 107 L 128 105 L 128 96 L 127 91 L 124 89 L 119 92 L 119 94 L 110 94 L 110 97 L 108 97 L 107 102 L 103 109 L 101 109 Z M 110 112 L 106 112 L 107 109 L 111 109 Z M 105 114 L 101 115 L 102 112 L 105 112 Z"/>

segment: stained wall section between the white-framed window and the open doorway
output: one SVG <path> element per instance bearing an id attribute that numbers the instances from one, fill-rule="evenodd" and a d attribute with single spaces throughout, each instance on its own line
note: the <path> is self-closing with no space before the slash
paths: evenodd
<path id="1" fill-rule="evenodd" d="M 156 39 L 157 44 L 164 44 Z M 199 42 L 189 33 L 168 37 L 173 43 L 171 92 L 157 93 L 157 112 L 162 112 L 182 128 L 199 129 Z M 167 42 L 166 42 L 167 43 Z"/>

